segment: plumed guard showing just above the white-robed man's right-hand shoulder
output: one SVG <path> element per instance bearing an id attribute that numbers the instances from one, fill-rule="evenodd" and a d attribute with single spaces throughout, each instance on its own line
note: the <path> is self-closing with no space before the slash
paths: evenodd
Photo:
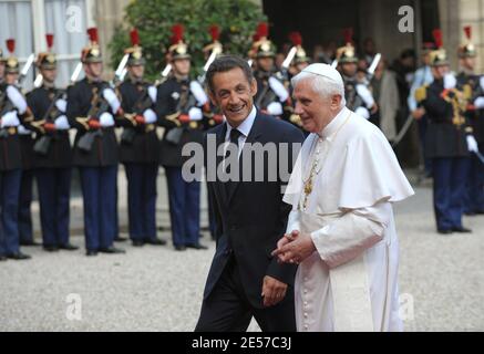
<path id="1" fill-rule="evenodd" d="M 369 119 L 378 111 L 367 82 L 358 79 L 358 56 L 352 44 L 352 29 L 344 30 L 346 45 L 337 50 L 339 71 L 343 77 L 347 107 Z"/>

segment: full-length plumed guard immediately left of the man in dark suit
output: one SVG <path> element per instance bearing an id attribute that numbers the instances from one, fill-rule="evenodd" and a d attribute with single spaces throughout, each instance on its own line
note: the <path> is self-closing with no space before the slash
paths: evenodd
<path id="1" fill-rule="evenodd" d="M 206 249 L 199 243 L 200 184 L 185 180 L 182 167 L 187 157 L 182 149 L 187 143 L 203 143 L 209 112 L 208 97 L 202 85 L 189 79 L 190 54 L 183 41 L 183 27 L 173 27 L 172 45 L 168 49 L 172 76 L 158 86 L 156 113 L 165 127 L 161 142 L 159 164 L 165 168 L 168 184 L 169 217 L 175 250 Z"/>

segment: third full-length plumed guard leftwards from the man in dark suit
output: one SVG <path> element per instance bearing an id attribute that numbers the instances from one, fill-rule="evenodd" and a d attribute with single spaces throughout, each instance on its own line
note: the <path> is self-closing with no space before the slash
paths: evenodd
<path id="1" fill-rule="evenodd" d="M 97 31 L 87 32 L 91 42 L 81 54 L 85 77 L 69 90 L 66 116 L 78 129 L 73 163 L 81 175 L 86 254 L 96 256 L 124 252 L 113 247 L 119 163 L 114 115 L 122 114 L 122 108 L 111 85 L 101 79 L 103 59 Z"/>

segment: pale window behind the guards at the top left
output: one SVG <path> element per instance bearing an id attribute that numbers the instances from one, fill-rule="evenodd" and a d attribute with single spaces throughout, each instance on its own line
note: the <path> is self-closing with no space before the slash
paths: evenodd
<path id="1" fill-rule="evenodd" d="M 8 55 L 6 40 L 16 39 L 16 55 L 21 65 L 31 53 L 47 49 L 45 33 L 54 33 L 53 52 L 58 54 L 60 87 L 69 80 L 86 44 L 86 28 L 93 23 L 92 0 L 0 0 L 0 46 Z M 30 90 L 34 70 L 24 84 Z M 81 77 L 79 77 L 81 79 Z"/>

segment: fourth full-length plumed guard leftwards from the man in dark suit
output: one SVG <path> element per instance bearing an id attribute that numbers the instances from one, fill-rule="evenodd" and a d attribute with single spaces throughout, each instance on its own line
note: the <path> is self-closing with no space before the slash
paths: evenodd
<path id="1" fill-rule="evenodd" d="M 40 86 L 30 92 L 27 102 L 32 111 L 35 131 L 33 159 L 40 204 L 42 243 L 47 251 L 73 251 L 69 241 L 72 148 L 70 125 L 65 116 L 65 90 L 55 87 L 56 58 L 52 53 L 53 34 L 47 34 L 48 52 L 37 59 Z"/>

